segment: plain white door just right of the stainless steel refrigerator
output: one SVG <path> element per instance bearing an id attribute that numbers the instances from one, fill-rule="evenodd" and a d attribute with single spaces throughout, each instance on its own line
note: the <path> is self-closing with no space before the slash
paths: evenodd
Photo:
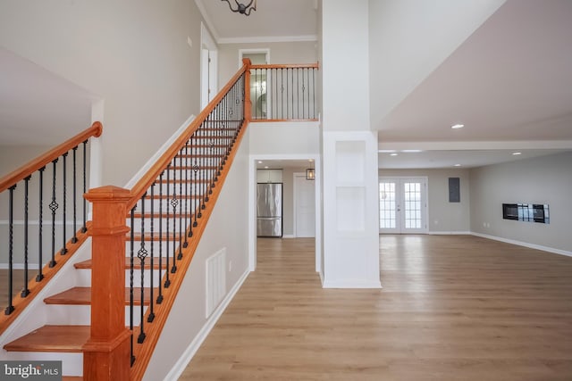
<path id="1" fill-rule="evenodd" d="M 294 174 L 294 236 L 315 236 L 315 181 Z"/>

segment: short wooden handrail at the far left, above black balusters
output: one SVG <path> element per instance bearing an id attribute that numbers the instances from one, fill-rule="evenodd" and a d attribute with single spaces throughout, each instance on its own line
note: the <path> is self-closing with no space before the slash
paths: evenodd
<path id="1" fill-rule="evenodd" d="M 50 162 L 55 161 L 55 159 L 62 156 L 63 153 L 67 153 L 73 147 L 85 142 L 89 137 L 100 137 L 102 132 L 103 126 L 100 122 L 95 121 L 90 128 L 85 129 L 75 137 L 71 137 L 61 145 L 55 146 L 48 152 L 38 156 L 36 159 L 28 162 L 27 164 L 21 166 L 19 169 L 14 170 L 13 172 L 4 176 L 4 178 L 0 179 L 0 193 L 4 192 L 4 190 L 8 189 L 10 186 L 13 186 L 24 178 L 29 177 L 29 175 L 39 170 L 40 168 L 45 167 Z"/>

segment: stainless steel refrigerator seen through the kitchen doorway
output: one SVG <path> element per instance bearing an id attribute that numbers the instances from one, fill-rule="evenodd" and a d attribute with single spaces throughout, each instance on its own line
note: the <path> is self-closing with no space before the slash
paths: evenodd
<path id="1" fill-rule="evenodd" d="M 282 184 L 257 185 L 257 236 L 282 237 Z"/>

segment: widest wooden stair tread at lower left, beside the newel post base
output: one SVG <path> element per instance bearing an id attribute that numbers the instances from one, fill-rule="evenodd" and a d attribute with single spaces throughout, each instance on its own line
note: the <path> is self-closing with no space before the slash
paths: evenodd
<path id="1" fill-rule="evenodd" d="M 89 326 L 44 326 L 4 345 L 8 352 L 81 352 Z"/>

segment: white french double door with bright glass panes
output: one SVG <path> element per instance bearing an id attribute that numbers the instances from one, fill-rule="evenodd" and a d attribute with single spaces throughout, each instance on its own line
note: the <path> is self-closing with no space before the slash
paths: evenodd
<path id="1" fill-rule="evenodd" d="M 427 232 L 427 178 L 380 178 L 379 232 Z"/>

